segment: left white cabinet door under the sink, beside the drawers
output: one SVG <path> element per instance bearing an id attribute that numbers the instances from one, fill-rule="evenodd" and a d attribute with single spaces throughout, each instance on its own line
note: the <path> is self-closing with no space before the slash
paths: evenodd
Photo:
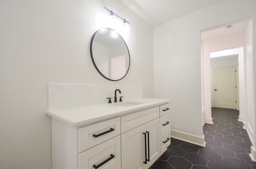
<path id="1" fill-rule="evenodd" d="M 145 161 L 144 125 L 121 135 L 122 169 L 142 169 Z"/>

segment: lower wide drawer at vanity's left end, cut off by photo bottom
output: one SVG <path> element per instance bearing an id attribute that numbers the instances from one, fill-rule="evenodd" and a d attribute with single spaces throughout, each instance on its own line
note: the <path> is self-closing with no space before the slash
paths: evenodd
<path id="1" fill-rule="evenodd" d="M 120 135 L 83 153 L 78 153 L 78 169 L 120 169 Z"/>

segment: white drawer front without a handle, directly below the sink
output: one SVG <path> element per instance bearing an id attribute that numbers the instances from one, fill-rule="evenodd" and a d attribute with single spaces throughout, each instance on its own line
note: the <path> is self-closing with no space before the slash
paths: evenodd
<path id="1" fill-rule="evenodd" d="M 159 117 L 159 107 L 142 110 L 121 117 L 121 133 L 127 132 Z"/>

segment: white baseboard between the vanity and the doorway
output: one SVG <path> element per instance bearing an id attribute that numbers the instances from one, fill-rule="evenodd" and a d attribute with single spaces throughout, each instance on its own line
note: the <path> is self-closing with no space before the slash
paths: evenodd
<path id="1" fill-rule="evenodd" d="M 202 137 L 171 130 L 171 137 L 205 147 L 204 135 Z"/>

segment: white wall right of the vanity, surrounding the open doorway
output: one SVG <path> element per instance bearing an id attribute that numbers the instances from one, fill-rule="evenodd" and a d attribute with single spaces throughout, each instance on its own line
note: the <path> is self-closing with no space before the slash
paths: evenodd
<path id="1" fill-rule="evenodd" d="M 200 31 L 255 18 L 255 7 L 255 0 L 224 0 L 154 28 L 155 97 L 172 99 L 171 130 L 203 136 Z M 254 19 L 252 22 L 255 24 Z M 255 26 L 252 31 L 256 31 Z M 253 40 L 256 41 L 255 33 Z M 256 50 L 255 43 L 253 49 Z"/>

